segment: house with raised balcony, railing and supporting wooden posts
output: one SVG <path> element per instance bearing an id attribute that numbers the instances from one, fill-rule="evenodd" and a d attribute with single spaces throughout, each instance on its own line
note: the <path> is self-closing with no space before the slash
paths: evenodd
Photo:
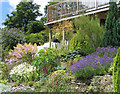
<path id="1" fill-rule="evenodd" d="M 54 5 L 48 6 L 47 10 L 47 25 L 50 28 L 49 42 L 52 39 L 53 26 L 61 25 L 63 31 L 63 42 L 65 41 L 65 28 L 66 24 L 69 24 L 71 19 L 84 15 L 95 17 L 96 15 L 100 19 L 100 24 L 105 24 L 107 13 L 109 10 L 109 2 L 116 2 L 118 8 L 120 7 L 120 0 L 62 0 Z M 120 11 L 119 11 L 120 12 Z M 120 13 L 119 13 L 120 17 Z M 67 23 L 65 23 L 67 21 Z"/>

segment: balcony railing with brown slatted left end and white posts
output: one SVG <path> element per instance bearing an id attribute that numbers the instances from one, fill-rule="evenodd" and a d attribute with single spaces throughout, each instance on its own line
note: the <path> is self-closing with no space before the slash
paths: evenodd
<path id="1" fill-rule="evenodd" d="M 79 15 L 98 7 L 109 5 L 111 0 L 64 0 L 48 6 L 47 22 Z M 119 1 L 119 0 L 114 0 Z"/>

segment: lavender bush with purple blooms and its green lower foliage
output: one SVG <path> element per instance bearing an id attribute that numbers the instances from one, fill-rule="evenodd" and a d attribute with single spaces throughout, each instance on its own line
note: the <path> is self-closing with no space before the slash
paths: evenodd
<path id="1" fill-rule="evenodd" d="M 113 62 L 117 48 L 98 48 L 96 52 L 71 65 L 71 71 L 77 77 L 89 78 L 104 74 Z"/>

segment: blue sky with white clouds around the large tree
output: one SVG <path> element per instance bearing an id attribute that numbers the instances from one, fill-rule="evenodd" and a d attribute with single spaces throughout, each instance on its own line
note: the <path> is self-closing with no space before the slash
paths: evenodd
<path id="1" fill-rule="evenodd" d="M 7 14 L 10 14 L 12 11 L 16 9 L 16 5 L 19 4 L 21 0 L 0 0 L 0 27 L 4 27 L 2 25 L 3 22 L 5 22 L 5 19 L 7 18 Z M 44 15 L 44 7 L 48 4 L 50 0 L 34 0 L 34 3 L 41 5 L 40 7 L 40 13 Z M 37 20 L 40 20 L 40 17 L 37 18 Z"/>

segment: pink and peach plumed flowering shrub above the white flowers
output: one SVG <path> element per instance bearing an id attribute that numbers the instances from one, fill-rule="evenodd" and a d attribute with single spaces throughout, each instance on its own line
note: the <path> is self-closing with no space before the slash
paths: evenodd
<path id="1" fill-rule="evenodd" d="M 31 43 L 24 45 L 19 44 L 17 47 L 14 47 L 12 52 L 9 52 L 9 59 L 5 61 L 12 63 L 12 62 L 29 62 L 31 63 L 32 58 L 35 56 L 37 52 L 37 45 L 32 45 Z"/>

